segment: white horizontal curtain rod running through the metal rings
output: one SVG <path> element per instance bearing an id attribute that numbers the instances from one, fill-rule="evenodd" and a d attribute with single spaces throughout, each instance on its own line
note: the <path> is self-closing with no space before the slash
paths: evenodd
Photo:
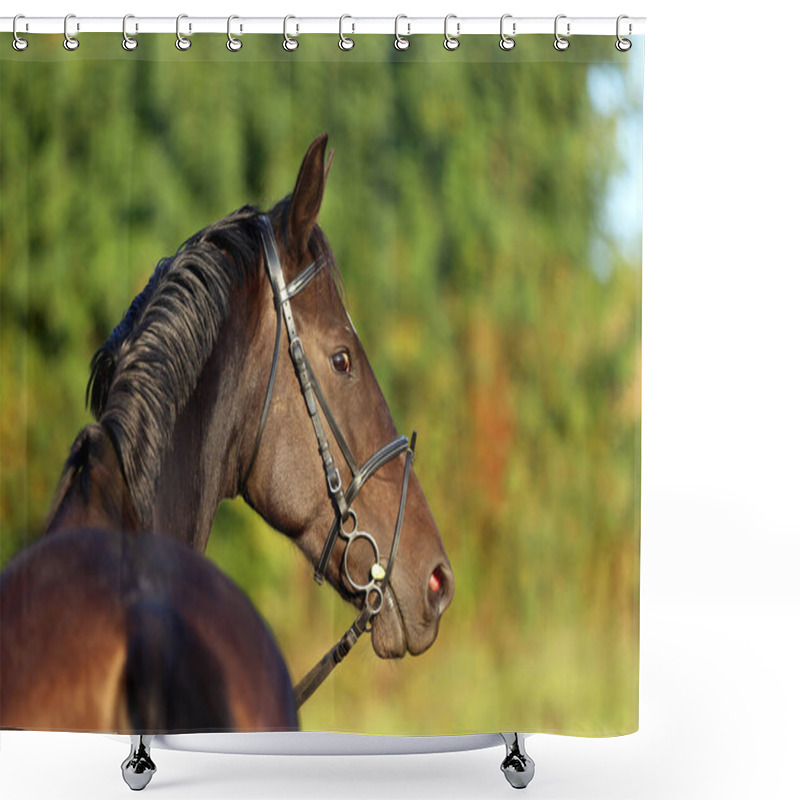
<path id="1" fill-rule="evenodd" d="M 503 20 L 503 31 L 506 36 L 523 34 L 550 34 L 555 31 L 554 17 L 515 17 L 506 14 Z M 190 36 L 195 33 L 228 32 L 228 17 L 193 17 L 180 16 L 180 34 Z M 81 17 L 70 14 L 64 17 L 27 17 L 17 18 L 18 35 L 39 33 L 67 33 L 79 36 L 83 33 L 122 33 L 122 17 Z M 500 17 L 459 17 L 449 15 L 447 31 L 450 36 L 472 34 L 500 35 Z M 284 27 L 286 26 L 286 27 Z M 396 27 L 397 26 L 397 27 Z M 176 17 L 136 17 L 129 15 L 125 23 L 128 36 L 141 33 L 176 33 L 178 19 Z M 620 33 L 631 36 L 644 33 L 644 17 L 623 17 Z M 0 17 L 0 31 L 14 30 L 14 17 Z M 231 33 L 242 34 L 284 34 L 298 36 L 305 33 L 330 33 L 347 36 L 363 33 L 376 33 L 401 36 L 417 34 L 445 33 L 444 17 L 233 17 Z M 562 37 L 617 34 L 616 17 L 570 17 L 559 15 L 558 33 Z"/>

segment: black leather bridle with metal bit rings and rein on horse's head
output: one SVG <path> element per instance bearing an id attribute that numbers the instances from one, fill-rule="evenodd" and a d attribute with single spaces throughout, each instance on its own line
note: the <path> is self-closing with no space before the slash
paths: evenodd
<path id="1" fill-rule="evenodd" d="M 314 375 L 314 371 L 311 368 L 311 364 L 303 348 L 303 343 L 297 335 L 297 327 L 295 326 L 294 315 L 292 314 L 292 298 L 300 294 L 300 292 L 311 283 L 322 271 L 325 262 L 322 259 L 312 261 L 287 285 L 278 254 L 275 232 L 266 214 L 259 217 L 259 230 L 261 232 L 261 240 L 264 249 L 264 262 L 267 276 L 272 286 L 277 321 L 275 325 L 275 347 L 272 354 L 272 367 L 270 369 L 269 381 L 267 383 L 267 394 L 264 399 L 264 407 L 261 411 L 261 419 L 258 425 L 258 432 L 256 433 L 253 453 L 241 483 L 242 495 L 245 499 L 248 499 L 247 482 L 258 456 L 261 439 L 264 434 L 264 427 L 269 414 L 269 407 L 272 402 L 272 393 L 275 388 L 275 376 L 278 371 L 281 335 L 283 325 L 285 324 L 286 334 L 289 338 L 289 355 L 294 364 L 297 379 L 300 382 L 300 389 L 305 399 L 308 415 L 314 426 L 317 449 L 322 458 L 325 482 L 334 509 L 334 520 L 328 532 L 328 538 L 322 548 L 317 566 L 314 569 L 314 580 L 318 584 L 322 584 L 325 578 L 325 571 L 331 559 L 331 554 L 333 553 L 334 545 L 337 539 L 341 537 L 346 541 L 344 555 L 342 556 L 342 573 L 353 589 L 357 593 L 363 593 L 364 595 L 364 607 L 355 622 L 347 629 L 344 636 L 342 636 L 336 645 L 295 687 L 295 701 L 299 708 L 313 692 L 316 691 L 322 681 L 328 677 L 336 664 L 340 663 L 350 652 L 359 636 L 370 629 L 372 620 L 383 608 L 384 589 L 389 585 L 389 578 L 392 573 L 395 556 L 397 555 L 397 547 L 400 542 L 400 531 L 403 527 L 403 514 L 405 512 L 408 492 L 408 480 L 411 474 L 411 465 L 414 461 L 414 448 L 417 434 L 416 431 L 412 434 L 410 442 L 407 437 L 398 436 L 393 441 L 376 450 L 360 467 L 358 466 L 358 462 L 348 446 L 347 440 L 325 399 L 322 387 Z M 322 410 L 322 415 L 325 416 L 328 422 L 328 426 L 336 439 L 336 443 L 339 445 L 339 450 L 344 456 L 352 475 L 352 479 L 346 490 L 343 487 L 341 474 L 339 473 L 339 469 L 331 453 L 330 443 L 322 424 L 320 409 Z M 358 529 L 358 517 L 352 505 L 364 484 L 366 484 L 381 467 L 403 453 L 406 454 L 406 459 L 403 471 L 403 485 L 400 493 L 400 505 L 397 509 L 392 546 L 389 551 L 386 566 L 384 567 L 381 564 L 378 543 L 375 541 L 372 534 Z M 367 583 L 358 583 L 348 566 L 350 549 L 353 544 L 359 540 L 366 542 L 375 554 L 375 561 L 370 568 L 369 580 Z"/>

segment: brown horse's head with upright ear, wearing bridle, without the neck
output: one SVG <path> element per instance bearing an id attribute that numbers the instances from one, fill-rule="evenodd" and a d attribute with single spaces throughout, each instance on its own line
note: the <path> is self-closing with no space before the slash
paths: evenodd
<path id="1" fill-rule="evenodd" d="M 400 657 L 435 640 L 453 574 L 410 469 L 413 449 L 398 436 L 317 223 L 332 161 L 326 144 L 327 135 L 311 144 L 294 191 L 261 223 L 266 279 L 254 336 L 264 347 L 254 348 L 246 372 L 264 375 L 263 392 L 274 326 L 285 326 L 288 343 L 274 351 L 272 397 L 242 462 L 242 491 L 297 543 L 318 578 L 324 573 L 346 599 L 380 610 L 373 648 Z"/>

